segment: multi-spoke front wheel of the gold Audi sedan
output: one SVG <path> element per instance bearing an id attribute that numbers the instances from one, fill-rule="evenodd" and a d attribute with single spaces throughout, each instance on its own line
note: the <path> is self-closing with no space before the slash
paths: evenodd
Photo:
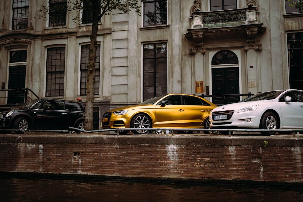
<path id="1" fill-rule="evenodd" d="M 142 130 L 132 131 L 134 134 L 147 134 L 148 131 L 145 128 L 152 128 L 151 118 L 145 114 L 137 114 L 132 118 L 131 121 L 132 128 L 138 128 Z"/>

